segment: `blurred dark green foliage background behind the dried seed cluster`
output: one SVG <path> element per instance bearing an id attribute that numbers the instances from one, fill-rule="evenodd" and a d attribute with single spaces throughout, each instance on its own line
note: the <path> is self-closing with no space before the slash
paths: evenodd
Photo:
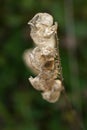
<path id="1" fill-rule="evenodd" d="M 27 22 L 38 12 L 59 24 L 65 89 L 87 129 L 87 0 L 0 0 L 0 130 L 76 128 L 62 95 L 50 104 L 28 82 L 34 74 L 22 56 L 34 46 Z"/>

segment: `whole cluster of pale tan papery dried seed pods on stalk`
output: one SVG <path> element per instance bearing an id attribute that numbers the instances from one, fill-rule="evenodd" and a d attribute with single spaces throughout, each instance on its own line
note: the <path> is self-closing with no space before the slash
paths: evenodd
<path id="1" fill-rule="evenodd" d="M 48 13 L 36 14 L 28 24 L 30 36 L 36 47 L 24 53 L 28 67 L 37 73 L 30 77 L 32 86 L 41 91 L 43 99 L 54 103 L 59 99 L 62 87 L 62 72 L 57 40 L 57 22 L 53 25 L 53 17 Z"/>

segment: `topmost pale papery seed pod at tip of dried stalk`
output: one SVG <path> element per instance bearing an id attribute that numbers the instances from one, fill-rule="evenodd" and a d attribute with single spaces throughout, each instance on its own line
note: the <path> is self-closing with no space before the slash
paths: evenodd
<path id="1" fill-rule="evenodd" d="M 31 27 L 30 36 L 38 45 L 55 46 L 55 32 L 57 24 L 53 25 L 53 17 L 48 13 L 36 14 L 28 24 Z"/>

